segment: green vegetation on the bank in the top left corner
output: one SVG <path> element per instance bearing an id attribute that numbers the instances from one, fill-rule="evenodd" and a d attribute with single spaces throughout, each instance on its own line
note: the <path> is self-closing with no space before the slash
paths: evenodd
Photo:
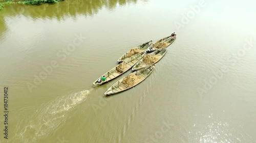
<path id="1" fill-rule="evenodd" d="M 55 4 L 63 0 L 24 0 L 20 2 L 13 2 L 12 0 L 0 0 L 0 10 L 3 10 L 5 5 L 9 4 L 27 4 L 27 5 L 40 5 L 42 3 L 51 3 Z"/>

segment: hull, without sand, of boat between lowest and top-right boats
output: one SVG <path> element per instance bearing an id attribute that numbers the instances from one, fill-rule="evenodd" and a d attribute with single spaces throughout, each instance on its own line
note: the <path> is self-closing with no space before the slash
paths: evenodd
<path id="1" fill-rule="evenodd" d="M 143 60 L 146 58 L 146 56 L 144 56 L 137 64 L 135 64 L 135 66 L 133 66 L 132 71 L 137 71 L 139 69 L 142 69 L 142 68 L 148 67 L 150 65 L 156 64 L 157 62 L 159 62 L 163 58 L 166 51 L 167 51 L 167 47 L 157 49 L 154 52 L 148 53 L 147 55 L 153 56 L 154 58 L 156 58 L 156 61 L 152 64 L 147 64 L 147 63 L 143 62 Z"/>

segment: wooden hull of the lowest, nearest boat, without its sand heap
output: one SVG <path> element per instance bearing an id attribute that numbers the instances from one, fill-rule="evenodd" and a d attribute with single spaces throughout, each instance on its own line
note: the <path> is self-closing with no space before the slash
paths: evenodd
<path id="1" fill-rule="evenodd" d="M 113 94 L 117 94 L 117 93 L 129 90 L 129 89 L 135 87 L 136 85 L 141 83 L 143 80 L 145 80 L 152 73 L 152 71 L 154 70 L 155 66 L 156 65 L 152 65 L 152 66 L 147 67 L 147 68 L 142 68 L 142 69 L 140 69 L 138 71 L 135 71 L 135 72 L 125 76 L 124 78 L 122 78 L 122 79 L 118 80 L 116 83 L 114 83 L 104 94 L 106 96 L 113 95 Z M 123 83 L 123 79 L 125 79 L 128 76 L 131 76 L 132 74 L 136 76 L 137 80 L 135 80 L 135 82 L 133 82 L 128 87 L 127 85 L 125 85 Z"/>

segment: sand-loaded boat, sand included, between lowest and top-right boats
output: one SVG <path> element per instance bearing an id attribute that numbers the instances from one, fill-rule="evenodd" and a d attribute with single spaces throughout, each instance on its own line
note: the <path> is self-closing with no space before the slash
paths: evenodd
<path id="1" fill-rule="evenodd" d="M 156 64 L 158 61 L 160 61 L 163 58 L 166 51 L 167 51 L 167 47 L 157 49 L 154 52 L 146 54 L 135 66 L 133 66 L 132 71 L 137 71 L 139 69 Z"/>

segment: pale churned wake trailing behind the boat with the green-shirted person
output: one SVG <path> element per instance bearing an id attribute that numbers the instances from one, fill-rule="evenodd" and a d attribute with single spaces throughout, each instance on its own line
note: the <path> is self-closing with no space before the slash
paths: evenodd
<path id="1" fill-rule="evenodd" d="M 13 142 L 38 142 L 39 139 L 47 137 L 66 122 L 68 119 L 67 113 L 76 105 L 85 101 L 90 91 L 84 90 L 68 96 L 61 96 L 41 105 L 33 116 L 18 123 Z M 24 125 L 26 126 L 20 127 Z"/>

